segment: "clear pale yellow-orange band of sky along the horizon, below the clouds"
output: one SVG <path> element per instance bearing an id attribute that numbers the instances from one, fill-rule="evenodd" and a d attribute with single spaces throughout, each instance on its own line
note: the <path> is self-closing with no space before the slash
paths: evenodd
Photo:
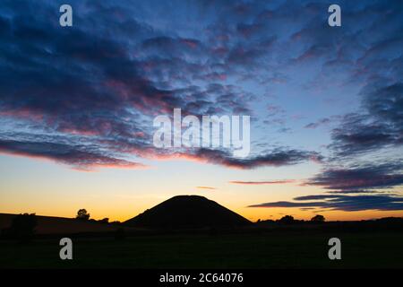
<path id="1" fill-rule="evenodd" d="M 39 163 L 28 158 L 0 155 L 0 213 L 37 213 L 38 215 L 72 218 L 81 208 L 91 218 L 125 221 L 146 209 L 178 195 L 199 195 L 243 215 L 255 222 L 277 220 L 289 214 L 309 220 L 313 210 L 299 208 L 247 207 L 277 201 L 292 201 L 296 196 L 323 194 L 321 187 L 303 186 L 306 170 L 316 167 L 267 168 L 262 170 L 224 170 L 197 162 L 159 162 L 150 170 L 71 170 L 51 161 Z M 39 168 L 40 164 L 40 168 Z M 306 167 L 306 169 L 304 169 Z M 299 178 L 296 170 L 303 170 Z M 169 174 L 167 174 L 169 170 Z M 270 175 L 267 175 L 270 172 Z M 274 185 L 236 185 L 231 180 L 287 179 L 292 183 Z M 205 189 L 198 187 L 214 187 Z M 400 191 L 401 192 L 401 191 Z M 315 210 L 317 211 L 317 210 Z M 365 220 L 388 216 L 403 216 L 403 211 L 364 210 L 358 212 L 320 211 L 329 221 Z"/>

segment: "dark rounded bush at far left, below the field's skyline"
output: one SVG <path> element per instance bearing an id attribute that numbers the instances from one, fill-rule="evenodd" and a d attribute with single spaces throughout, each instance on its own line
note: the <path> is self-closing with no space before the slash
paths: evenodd
<path id="1" fill-rule="evenodd" d="M 35 228 L 38 225 L 35 213 L 23 213 L 15 216 L 11 227 L 5 230 L 5 234 L 20 242 L 29 242 L 35 237 Z"/>

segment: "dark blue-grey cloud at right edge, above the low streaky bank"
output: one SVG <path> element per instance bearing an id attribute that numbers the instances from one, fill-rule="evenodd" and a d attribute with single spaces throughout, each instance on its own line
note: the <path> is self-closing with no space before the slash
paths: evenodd
<path id="1" fill-rule="evenodd" d="M 374 85 L 363 91 L 366 113 L 346 115 L 341 126 L 332 131 L 330 148 L 336 156 L 349 157 L 403 144 L 403 83 Z"/>

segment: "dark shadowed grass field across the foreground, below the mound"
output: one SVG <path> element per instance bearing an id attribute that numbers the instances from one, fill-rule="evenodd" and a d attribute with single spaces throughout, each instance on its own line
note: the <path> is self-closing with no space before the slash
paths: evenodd
<path id="1" fill-rule="evenodd" d="M 302 233 L 302 234 L 301 234 Z M 341 239 L 341 260 L 328 239 Z M 73 260 L 58 240 L 0 242 L 2 268 L 403 268 L 403 233 L 266 232 L 75 239 Z"/>

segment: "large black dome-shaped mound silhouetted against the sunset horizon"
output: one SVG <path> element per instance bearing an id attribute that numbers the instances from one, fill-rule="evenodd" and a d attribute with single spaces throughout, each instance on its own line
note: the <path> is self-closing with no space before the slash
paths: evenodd
<path id="1" fill-rule="evenodd" d="M 174 196 L 124 222 L 128 226 L 150 228 L 231 227 L 251 223 L 203 196 Z"/>

